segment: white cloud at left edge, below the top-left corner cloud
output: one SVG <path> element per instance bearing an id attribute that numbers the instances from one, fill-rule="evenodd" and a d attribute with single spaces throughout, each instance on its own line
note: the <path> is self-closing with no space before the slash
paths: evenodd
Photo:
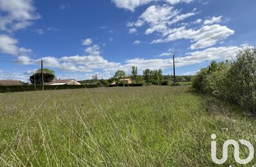
<path id="1" fill-rule="evenodd" d="M 31 49 L 17 47 L 17 43 L 17 39 L 13 39 L 8 35 L 0 35 L 0 52 L 8 55 L 19 56 L 28 54 L 32 51 Z"/>

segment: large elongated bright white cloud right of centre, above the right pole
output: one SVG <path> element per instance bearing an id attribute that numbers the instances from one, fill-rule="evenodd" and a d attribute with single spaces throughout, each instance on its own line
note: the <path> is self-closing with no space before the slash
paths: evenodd
<path id="1" fill-rule="evenodd" d="M 192 39 L 192 42 L 196 42 L 190 46 L 190 49 L 201 49 L 209 46 L 213 46 L 220 40 L 226 39 L 226 37 L 233 35 L 235 31 L 227 28 L 226 26 L 220 26 L 215 24 L 212 26 L 203 26 L 199 30 L 181 28 L 179 31 L 170 33 L 166 39 L 153 40 L 152 43 L 170 42 L 178 39 Z"/>

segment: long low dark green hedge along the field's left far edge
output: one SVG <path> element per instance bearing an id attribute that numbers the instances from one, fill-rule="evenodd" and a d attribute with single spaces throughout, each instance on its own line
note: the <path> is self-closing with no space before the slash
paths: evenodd
<path id="1" fill-rule="evenodd" d="M 58 89 L 83 89 L 83 88 L 95 88 L 99 85 L 44 85 L 44 90 L 58 90 Z M 37 91 L 41 91 L 42 86 L 37 85 Z M 24 92 L 35 91 L 33 85 L 17 85 L 17 86 L 3 86 L 0 85 L 0 92 Z"/>

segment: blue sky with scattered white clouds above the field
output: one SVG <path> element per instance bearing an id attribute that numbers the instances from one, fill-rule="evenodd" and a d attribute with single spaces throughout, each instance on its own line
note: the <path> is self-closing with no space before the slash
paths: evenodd
<path id="1" fill-rule="evenodd" d="M 193 75 L 255 46 L 255 0 L 0 0 L 0 80 L 36 69 L 110 78 L 137 66 Z"/>

